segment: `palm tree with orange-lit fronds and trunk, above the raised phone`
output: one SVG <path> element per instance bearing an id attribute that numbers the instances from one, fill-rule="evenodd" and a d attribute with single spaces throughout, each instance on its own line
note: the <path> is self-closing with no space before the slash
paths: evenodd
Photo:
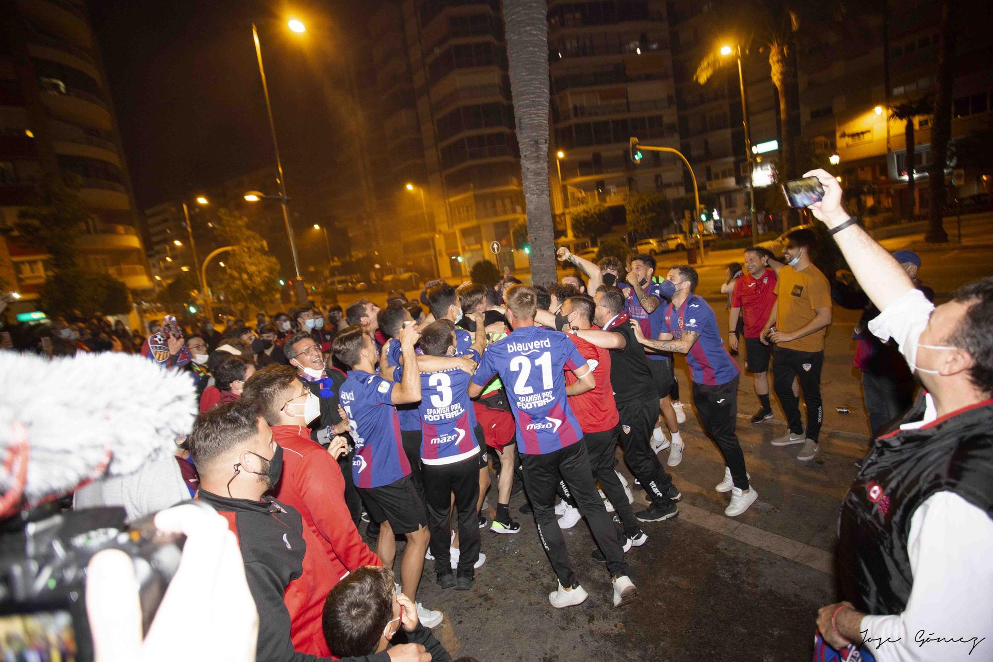
<path id="1" fill-rule="evenodd" d="M 753 40 L 762 44 L 760 52 L 769 52 L 770 74 L 780 97 L 780 179 L 788 179 L 794 165 L 789 127 L 789 110 L 794 99 L 790 98 L 787 83 L 796 78 L 795 33 L 800 29 L 801 13 L 806 13 L 807 5 L 795 0 L 761 0 L 739 2 L 730 9 L 730 12 L 724 12 L 725 20 L 733 32 L 741 35 L 742 56 L 748 52 L 747 46 Z M 693 79 L 700 84 L 707 83 L 722 65 L 732 62 L 734 60 L 722 58 L 712 51 L 700 60 Z"/>

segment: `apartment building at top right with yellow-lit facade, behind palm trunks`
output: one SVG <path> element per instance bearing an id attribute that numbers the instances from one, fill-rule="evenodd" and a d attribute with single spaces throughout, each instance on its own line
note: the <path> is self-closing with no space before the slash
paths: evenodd
<path id="1" fill-rule="evenodd" d="M 848 26 L 843 38 L 827 35 L 797 57 L 803 137 L 837 154 L 842 184 L 861 191 L 860 211 L 870 216 L 911 214 L 905 121 L 890 119 L 890 108 L 937 93 L 939 4 L 889 1 L 885 30 L 882 12 L 867 15 Z M 989 7 L 965 0 L 957 9 L 953 141 L 988 128 L 993 120 L 993 47 L 985 31 L 975 29 L 985 24 Z M 912 121 L 915 197 L 918 212 L 925 213 L 930 196 L 930 113 Z M 949 186 L 951 174 L 947 169 Z M 964 182 L 957 182 L 960 195 L 990 191 L 982 173 L 965 175 Z"/>

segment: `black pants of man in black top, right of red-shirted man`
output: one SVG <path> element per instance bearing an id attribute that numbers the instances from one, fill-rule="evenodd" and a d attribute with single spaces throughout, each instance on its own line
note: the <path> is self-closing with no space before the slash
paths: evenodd
<path id="1" fill-rule="evenodd" d="M 646 398 L 618 403 L 621 414 L 621 447 L 631 472 L 638 478 L 651 503 L 668 508 L 672 503 L 666 491 L 672 477 L 662 468 L 655 453 L 651 452 L 651 431 L 658 420 L 658 395 L 652 391 Z M 613 499 L 611 503 L 614 503 Z M 614 504 L 617 508 L 617 504 Z"/>

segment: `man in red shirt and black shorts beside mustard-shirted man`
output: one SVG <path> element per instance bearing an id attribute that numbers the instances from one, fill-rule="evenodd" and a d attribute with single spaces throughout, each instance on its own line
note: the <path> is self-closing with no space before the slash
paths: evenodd
<path id="1" fill-rule="evenodd" d="M 738 328 L 739 315 L 745 315 L 747 359 L 745 372 L 752 373 L 755 378 L 755 392 L 762 404 L 762 409 L 752 416 L 754 423 L 773 417 L 773 408 L 769 404 L 769 359 L 772 350 L 760 340 L 760 336 L 766 320 L 769 319 L 769 313 L 776 304 L 774 267 L 781 264 L 771 259 L 768 252 L 756 246 L 745 248 L 745 270 L 742 276 L 735 280 L 735 288 L 731 292 L 731 316 L 728 321 L 728 345 L 737 352 L 738 334 L 735 333 L 735 329 Z"/>

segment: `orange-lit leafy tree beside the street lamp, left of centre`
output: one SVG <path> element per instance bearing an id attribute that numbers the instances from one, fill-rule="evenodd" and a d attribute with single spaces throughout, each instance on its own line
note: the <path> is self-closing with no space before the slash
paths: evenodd
<path id="1" fill-rule="evenodd" d="M 255 305 L 276 296 L 279 260 L 272 256 L 262 237 L 249 229 L 248 219 L 226 209 L 217 210 L 217 236 L 235 247 L 224 257 L 216 289 L 232 302 Z"/>

